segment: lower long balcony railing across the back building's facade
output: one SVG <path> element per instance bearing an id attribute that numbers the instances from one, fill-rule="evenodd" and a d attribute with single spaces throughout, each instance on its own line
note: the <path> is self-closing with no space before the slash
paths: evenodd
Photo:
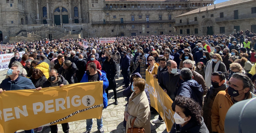
<path id="1" fill-rule="evenodd" d="M 120 24 L 120 23 L 164 23 L 164 22 L 175 22 L 175 20 L 140 20 L 140 21 L 106 21 L 106 22 L 92 22 L 92 24 Z"/>

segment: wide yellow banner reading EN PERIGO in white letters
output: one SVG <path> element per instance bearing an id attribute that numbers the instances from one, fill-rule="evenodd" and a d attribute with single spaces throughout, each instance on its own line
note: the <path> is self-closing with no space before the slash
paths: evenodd
<path id="1" fill-rule="evenodd" d="M 0 94 L 0 133 L 30 130 L 102 115 L 103 81 Z"/>

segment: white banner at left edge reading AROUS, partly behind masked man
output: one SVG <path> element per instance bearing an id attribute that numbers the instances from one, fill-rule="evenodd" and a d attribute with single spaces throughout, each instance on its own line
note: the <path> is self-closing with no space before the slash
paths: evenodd
<path id="1" fill-rule="evenodd" d="M 19 53 L 21 58 L 25 52 L 19 52 Z M 0 55 L 0 71 L 9 69 L 8 65 L 12 57 L 14 57 L 14 53 L 7 53 L 7 54 Z"/>

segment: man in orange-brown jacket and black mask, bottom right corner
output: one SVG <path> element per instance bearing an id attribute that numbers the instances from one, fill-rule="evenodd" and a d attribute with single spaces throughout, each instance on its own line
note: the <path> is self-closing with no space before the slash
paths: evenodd
<path id="1" fill-rule="evenodd" d="M 252 93 L 254 85 L 251 79 L 246 74 L 233 74 L 228 81 L 228 88 L 225 91 L 220 91 L 212 105 L 212 132 L 224 133 L 224 123 L 228 109 L 236 102 L 255 98 Z"/>

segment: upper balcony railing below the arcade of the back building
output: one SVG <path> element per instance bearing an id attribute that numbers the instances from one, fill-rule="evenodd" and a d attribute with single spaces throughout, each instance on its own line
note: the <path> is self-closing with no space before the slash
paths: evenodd
<path id="1" fill-rule="evenodd" d="M 181 10 L 189 9 L 189 7 L 164 7 L 164 8 L 111 8 L 104 7 L 103 10 Z"/>

